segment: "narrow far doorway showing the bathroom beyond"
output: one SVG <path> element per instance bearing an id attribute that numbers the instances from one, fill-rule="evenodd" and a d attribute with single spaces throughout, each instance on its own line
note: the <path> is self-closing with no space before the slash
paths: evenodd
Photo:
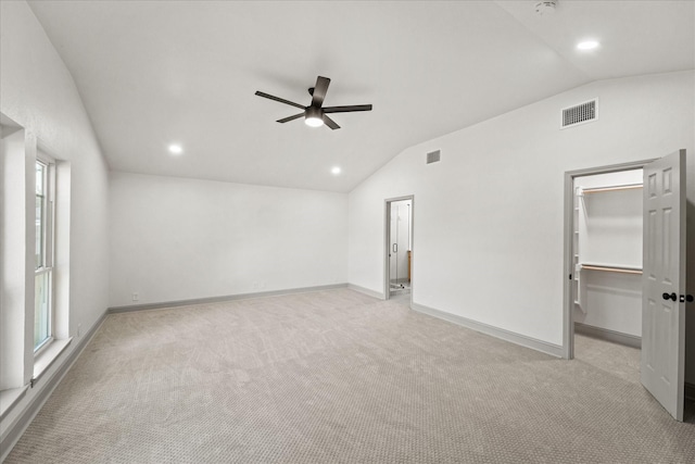
<path id="1" fill-rule="evenodd" d="M 386 299 L 410 301 L 413 288 L 414 198 L 386 200 Z"/>

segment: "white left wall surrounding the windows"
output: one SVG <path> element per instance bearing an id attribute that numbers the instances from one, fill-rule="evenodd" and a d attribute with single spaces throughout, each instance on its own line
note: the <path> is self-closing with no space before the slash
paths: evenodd
<path id="1" fill-rule="evenodd" d="M 77 337 L 78 325 L 84 334 L 108 308 L 108 165 L 70 72 L 25 2 L 0 2 L 0 112 L 35 146 L 72 166 L 68 331 Z M 3 419 L 3 439 L 41 387 L 29 389 Z"/>

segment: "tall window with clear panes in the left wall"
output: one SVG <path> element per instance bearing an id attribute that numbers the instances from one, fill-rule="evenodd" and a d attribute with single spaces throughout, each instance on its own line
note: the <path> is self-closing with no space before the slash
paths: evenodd
<path id="1" fill-rule="evenodd" d="M 53 339 L 54 164 L 36 162 L 36 263 L 34 352 Z"/>

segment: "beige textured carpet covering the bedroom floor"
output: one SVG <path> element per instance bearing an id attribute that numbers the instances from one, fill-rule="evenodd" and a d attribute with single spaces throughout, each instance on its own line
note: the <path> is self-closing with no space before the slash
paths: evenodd
<path id="1" fill-rule="evenodd" d="M 7 462 L 695 462 L 626 376 L 346 289 L 118 314 Z"/>

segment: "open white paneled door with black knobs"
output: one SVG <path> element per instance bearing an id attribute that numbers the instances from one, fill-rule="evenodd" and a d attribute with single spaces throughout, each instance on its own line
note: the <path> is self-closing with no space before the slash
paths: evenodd
<path id="1" fill-rule="evenodd" d="M 685 150 L 644 166 L 642 384 L 683 421 Z"/>

